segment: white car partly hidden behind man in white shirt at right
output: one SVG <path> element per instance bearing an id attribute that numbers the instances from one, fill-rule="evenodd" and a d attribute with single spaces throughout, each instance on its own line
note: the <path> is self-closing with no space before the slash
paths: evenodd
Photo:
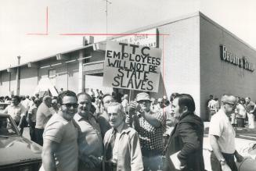
<path id="1" fill-rule="evenodd" d="M 236 130 L 236 151 L 243 155 L 243 162 L 236 162 L 239 171 L 256 170 L 256 129 L 234 128 Z M 208 123 L 204 123 L 204 166 L 211 171 L 211 145 L 208 138 Z"/>

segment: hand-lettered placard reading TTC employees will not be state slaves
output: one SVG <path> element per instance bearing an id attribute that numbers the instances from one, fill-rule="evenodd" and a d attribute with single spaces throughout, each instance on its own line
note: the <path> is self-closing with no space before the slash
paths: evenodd
<path id="1" fill-rule="evenodd" d="M 160 64 L 159 48 L 107 41 L 103 86 L 157 92 Z"/>

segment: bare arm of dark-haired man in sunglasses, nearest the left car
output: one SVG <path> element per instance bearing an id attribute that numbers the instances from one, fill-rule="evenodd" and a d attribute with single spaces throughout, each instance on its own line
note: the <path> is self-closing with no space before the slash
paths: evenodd
<path id="1" fill-rule="evenodd" d="M 42 148 L 42 165 L 47 171 L 56 171 L 56 162 L 54 159 L 54 153 L 58 147 L 59 143 L 51 141 L 49 139 L 44 139 L 44 145 Z"/>

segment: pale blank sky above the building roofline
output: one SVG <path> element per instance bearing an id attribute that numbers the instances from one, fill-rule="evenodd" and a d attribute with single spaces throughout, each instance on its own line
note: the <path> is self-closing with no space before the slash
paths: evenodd
<path id="1" fill-rule="evenodd" d="M 254 0 L 109 0 L 107 33 L 119 34 L 200 11 L 256 49 Z M 48 9 L 48 31 L 46 10 Z M 48 33 L 48 34 L 46 34 Z M 106 34 L 105 0 L 8 0 L 0 5 L 0 69 L 66 52 Z M 32 35 L 31 35 L 32 34 Z M 34 35 L 42 34 L 42 35 Z M 103 41 L 105 36 L 95 36 Z M 255 56 L 256 58 L 256 56 Z"/>

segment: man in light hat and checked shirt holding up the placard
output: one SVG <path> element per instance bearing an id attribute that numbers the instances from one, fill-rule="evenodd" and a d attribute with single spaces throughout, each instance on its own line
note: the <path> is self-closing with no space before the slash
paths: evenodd
<path id="1" fill-rule="evenodd" d="M 132 116 L 130 125 L 139 133 L 144 169 L 157 170 L 162 168 L 165 117 L 162 110 L 150 111 L 150 103 L 150 95 L 142 92 L 137 94 L 136 102 L 129 103 L 128 109 L 129 117 Z"/>

